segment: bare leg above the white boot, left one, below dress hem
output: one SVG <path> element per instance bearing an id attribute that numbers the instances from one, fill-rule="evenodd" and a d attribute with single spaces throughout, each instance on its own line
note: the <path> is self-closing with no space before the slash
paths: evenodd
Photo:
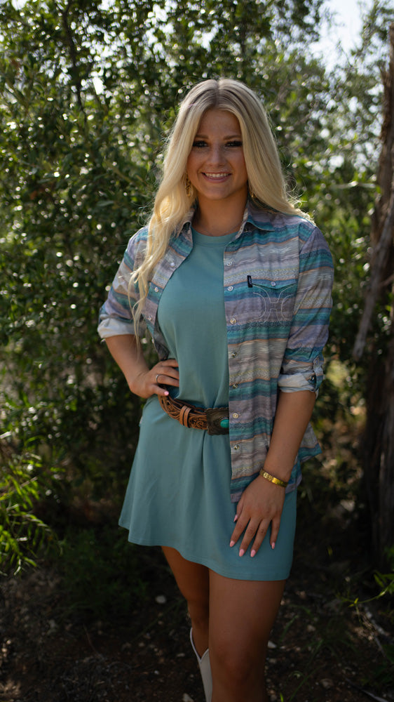
<path id="1" fill-rule="evenodd" d="M 184 596 L 193 629 L 193 642 L 199 656 L 208 649 L 209 634 L 209 570 L 187 561 L 175 548 L 163 547 L 163 553 Z"/>

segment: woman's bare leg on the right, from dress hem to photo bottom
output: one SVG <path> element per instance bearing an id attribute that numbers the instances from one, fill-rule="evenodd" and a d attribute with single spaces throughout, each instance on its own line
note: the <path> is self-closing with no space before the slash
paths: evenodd
<path id="1" fill-rule="evenodd" d="M 284 587 L 210 571 L 212 702 L 268 702 L 264 663 Z"/>

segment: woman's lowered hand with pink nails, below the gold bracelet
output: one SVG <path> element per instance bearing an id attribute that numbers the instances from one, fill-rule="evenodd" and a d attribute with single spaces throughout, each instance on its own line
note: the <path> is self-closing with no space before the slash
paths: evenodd
<path id="1" fill-rule="evenodd" d="M 259 475 L 247 486 L 237 505 L 234 519 L 237 522 L 231 535 L 230 546 L 236 544 L 243 531 L 243 540 L 240 545 L 239 555 L 243 556 L 254 538 L 250 555 L 253 557 L 259 550 L 261 543 L 271 524 L 271 548 L 275 548 L 278 538 L 280 516 L 282 515 L 285 501 L 285 489 L 266 480 Z"/>

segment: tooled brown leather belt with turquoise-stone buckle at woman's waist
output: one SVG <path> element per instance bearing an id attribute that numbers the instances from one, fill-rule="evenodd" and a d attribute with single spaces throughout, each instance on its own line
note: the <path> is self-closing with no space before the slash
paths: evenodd
<path id="1" fill-rule="evenodd" d="M 210 435 L 229 433 L 229 408 L 208 407 L 202 409 L 189 402 L 173 399 L 170 395 L 158 395 L 162 409 L 182 426 L 205 429 Z"/>

